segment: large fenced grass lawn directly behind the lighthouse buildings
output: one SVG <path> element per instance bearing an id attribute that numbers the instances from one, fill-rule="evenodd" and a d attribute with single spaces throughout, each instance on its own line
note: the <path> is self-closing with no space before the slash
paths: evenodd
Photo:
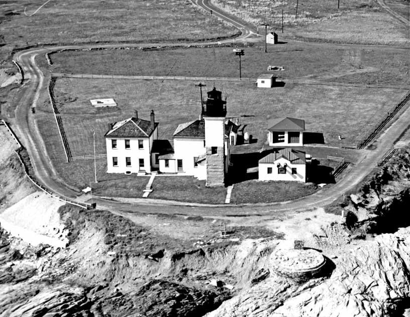
<path id="1" fill-rule="evenodd" d="M 207 84 L 211 89 L 213 82 Z M 255 150 L 266 143 L 268 119 L 282 116 L 304 119 L 306 130 L 323 133 L 330 145 L 340 145 L 339 134 L 345 137 L 343 144 L 353 143 L 404 93 L 317 85 L 257 89 L 252 83 L 240 82 L 217 82 L 216 86 L 227 97 L 228 116 L 252 116 L 241 123 L 247 124 L 245 131 L 258 139 L 248 145 Z M 190 81 L 61 78 L 56 81 L 54 94 L 73 156 L 92 152 L 93 130 L 97 153 L 105 153 L 108 123 L 131 117 L 134 109 L 141 118 L 147 118 L 154 109 L 160 122 L 159 136 L 167 139 L 179 123 L 197 118 L 200 111 L 199 91 Z M 112 97 L 118 106 L 96 110 L 89 105 L 89 99 L 98 97 Z M 51 113 L 47 117 L 43 119 L 48 120 L 46 126 L 54 126 Z"/>

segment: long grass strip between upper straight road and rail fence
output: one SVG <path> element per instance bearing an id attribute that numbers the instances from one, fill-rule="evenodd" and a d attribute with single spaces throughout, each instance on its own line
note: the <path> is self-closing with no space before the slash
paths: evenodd
<path id="1" fill-rule="evenodd" d="M 40 59 L 40 58 L 39 58 Z M 43 58 L 44 59 L 44 58 Z M 64 51 L 51 55 L 53 72 L 107 75 L 238 77 L 232 47 L 166 50 Z M 78 61 L 81 60 L 81 63 Z M 245 48 L 242 76 L 256 78 L 268 65 L 280 65 L 283 78 L 347 83 L 410 83 L 408 50 L 323 47 L 309 44 Z"/>

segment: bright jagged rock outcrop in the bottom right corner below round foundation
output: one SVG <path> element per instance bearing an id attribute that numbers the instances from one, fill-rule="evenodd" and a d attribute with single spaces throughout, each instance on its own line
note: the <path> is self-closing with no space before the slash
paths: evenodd
<path id="1" fill-rule="evenodd" d="M 407 308 L 410 229 L 356 243 L 334 260 L 336 268 L 328 279 L 297 284 L 271 274 L 207 317 L 381 317 Z"/>

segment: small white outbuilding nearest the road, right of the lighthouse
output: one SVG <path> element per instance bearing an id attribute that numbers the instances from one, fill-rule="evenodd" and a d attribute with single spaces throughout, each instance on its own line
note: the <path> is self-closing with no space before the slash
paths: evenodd
<path id="1" fill-rule="evenodd" d="M 259 181 L 306 182 L 306 153 L 291 148 L 277 149 L 259 160 Z"/>

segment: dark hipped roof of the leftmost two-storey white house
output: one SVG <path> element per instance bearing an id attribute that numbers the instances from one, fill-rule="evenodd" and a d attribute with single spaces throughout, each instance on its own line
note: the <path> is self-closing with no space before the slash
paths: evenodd
<path id="1" fill-rule="evenodd" d="M 128 118 L 123 121 L 116 122 L 113 128 L 106 133 L 106 137 L 149 137 L 157 128 L 158 122 L 151 126 L 151 121 Z"/>

